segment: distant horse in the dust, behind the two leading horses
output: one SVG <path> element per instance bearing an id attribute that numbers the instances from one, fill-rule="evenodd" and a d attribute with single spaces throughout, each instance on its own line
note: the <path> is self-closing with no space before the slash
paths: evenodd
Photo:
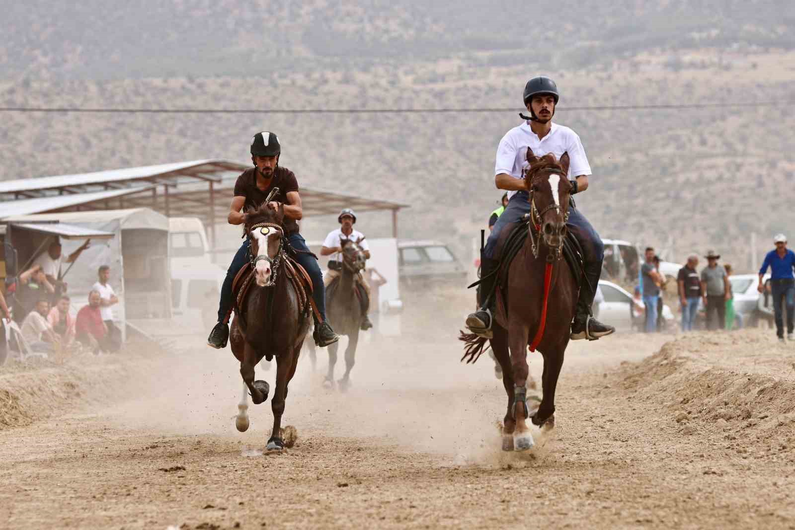
<path id="1" fill-rule="evenodd" d="M 356 362 L 356 345 L 359 343 L 359 327 L 362 325 L 363 308 L 356 294 L 356 274 L 364 269 L 366 258 L 364 251 L 359 246 L 359 241 L 342 238 L 339 240 L 342 248 L 343 262 L 339 279 L 334 280 L 326 291 L 328 319 L 334 323 L 334 330 L 339 335 L 347 335 L 348 343 L 345 348 L 345 373 L 338 381 L 339 389 L 346 390 L 350 385 L 351 368 Z M 364 293 L 361 293 L 365 296 Z M 324 385 L 334 387 L 334 366 L 337 363 L 338 343 L 328 345 L 328 373 Z"/>

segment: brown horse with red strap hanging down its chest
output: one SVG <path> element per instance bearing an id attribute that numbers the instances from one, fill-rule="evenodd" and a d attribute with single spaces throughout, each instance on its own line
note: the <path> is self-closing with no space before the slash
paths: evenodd
<path id="1" fill-rule="evenodd" d="M 502 384 L 508 394 L 508 410 L 502 429 L 502 449 L 505 451 L 525 451 L 533 447 L 533 436 L 525 421 L 527 417 L 533 425 L 541 427 L 542 434 L 548 434 L 555 425 L 555 388 L 577 301 L 577 282 L 567 262 L 560 257 L 571 191 L 566 179 L 568 153 L 556 161 L 552 154 L 537 158 L 528 149 L 527 161 L 530 165 L 525 171 L 525 187 L 531 204 L 530 230 L 522 249 L 510 264 L 507 300 L 505 303 L 502 296 L 498 296 L 492 325 L 491 348 L 502 366 Z M 510 231 L 510 227 L 502 230 L 499 247 Z M 531 413 L 525 389 L 527 350 L 541 327 L 547 265 L 551 266 L 547 316 L 537 342 L 537 350 L 544 358 L 541 376 L 543 397 L 537 410 Z M 463 358 L 474 362 L 483 353 L 487 339 L 462 333 L 461 340 L 467 342 L 467 353 Z"/>

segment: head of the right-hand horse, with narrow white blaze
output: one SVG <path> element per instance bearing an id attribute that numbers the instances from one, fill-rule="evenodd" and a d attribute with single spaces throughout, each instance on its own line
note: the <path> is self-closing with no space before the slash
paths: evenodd
<path id="1" fill-rule="evenodd" d="M 530 194 L 530 221 L 541 231 L 545 245 L 560 249 L 566 237 L 569 184 L 568 153 L 558 161 L 552 153 L 536 157 L 527 148 L 529 166 L 525 169 L 525 187 Z"/>

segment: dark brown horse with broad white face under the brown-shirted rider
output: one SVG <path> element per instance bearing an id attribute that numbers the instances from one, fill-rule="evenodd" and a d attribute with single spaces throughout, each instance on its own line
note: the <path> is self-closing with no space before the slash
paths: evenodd
<path id="1" fill-rule="evenodd" d="M 287 385 L 295 374 L 298 354 L 309 328 L 309 315 L 302 314 L 300 296 L 285 271 L 285 233 L 281 227 L 284 206 L 278 210 L 267 203 L 246 213 L 243 226 L 250 242 L 254 284 L 245 299 L 238 301 L 241 311 L 235 311 L 230 343 L 232 353 L 240 362 L 243 387 L 240 413 L 235 424 L 239 431 L 248 428 L 246 389 L 254 404 L 268 399 L 268 383 L 254 381 L 254 366 L 265 357 L 276 358 L 276 390 L 273 392 L 273 431 L 268 451 L 285 447 L 281 439 L 281 415 L 285 412 Z"/>

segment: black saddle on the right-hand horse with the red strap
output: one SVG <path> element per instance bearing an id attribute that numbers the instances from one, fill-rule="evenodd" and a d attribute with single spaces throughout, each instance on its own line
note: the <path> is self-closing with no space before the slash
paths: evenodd
<path id="1" fill-rule="evenodd" d="M 494 250 L 494 253 L 498 256 L 498 265 L 495 272 L 498 278 L 495 283 L 498 286 L 499 295 L 502 298 L 502 304 L 504 304 L 506 312 L 508 308 L 508 272 L 519 250 L 522 250 L 529 230 L 530 220 L 529 214 L 527 214 L 522 218 L 522 221 L 506 226 L 498 240 L 497 248 Z M 571 232 L 566 234 L 562 253 L 568 268 L 572 271 L 572 276 L 576 280 L 577 290 L 579 291 L 586 282 L 583 268 L 583 250 L 580 242 L 577 241 Z M 489 293 L 484 294 L 488 295 Z"/>

